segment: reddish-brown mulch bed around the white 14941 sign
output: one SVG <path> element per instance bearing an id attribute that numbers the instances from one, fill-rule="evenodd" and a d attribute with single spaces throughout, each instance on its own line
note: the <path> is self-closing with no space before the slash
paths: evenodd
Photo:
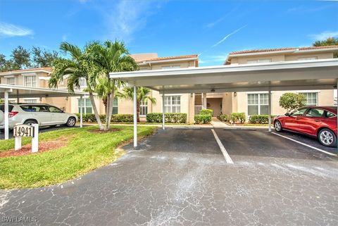
<path id="1" fill-rule="evenodd" d="M 69 137 L 60 137 L 58 140 L 51 140 L 46 142 L 39 142 L 39 151 L 34 153 L 41 153 L 44 151 L 50 151 L 65 146 L 68 142 Z M 26 144 L 21 147 L 18 151 L 11 149 L 0 153 L 0 158 L 13 157 L 13 156 L 25 156 L 34 154 L 32 152 L 32 144 Z"/>

